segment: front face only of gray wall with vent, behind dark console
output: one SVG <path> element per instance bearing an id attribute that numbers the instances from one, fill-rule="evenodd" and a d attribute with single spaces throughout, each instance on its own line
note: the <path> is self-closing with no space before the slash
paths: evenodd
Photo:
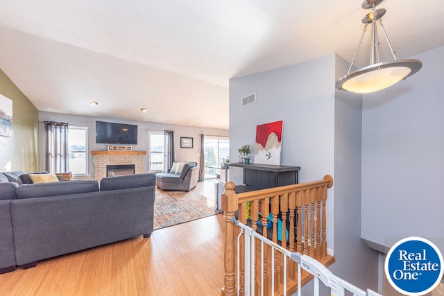
<path id="1" fill-rule="evenodd" d="M 281 164 L 300 166 L 300 182 L 333 175 L 333 79 L 334 55 L 330 55 L 230 80 L 231 161 L 237 162 L 240 146 L 255 147 L 257 125 L 282 120 Z M 256 92 L 256 103 L 241 107 L 241 98 L 253 92 Z M 230 181 L 242 183 L 240 168 L 230 168 Z M 334 194 L 330 191 L 329 227 L 334 226 L 333 201 Z M 333 234 L 333 231 L 327 234 L 330 249 L 334 247 Z"/>

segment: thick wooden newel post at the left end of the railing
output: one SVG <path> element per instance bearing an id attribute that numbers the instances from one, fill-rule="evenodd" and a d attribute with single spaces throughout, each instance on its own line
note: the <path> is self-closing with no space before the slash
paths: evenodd
<path id="1" fill-rule="evenodd" d="M 223 288 L 221 290 L 222 296 L 237 295 L 236 291 L 236 253 L 234 250 L 234 224 L 231 218 L 234 217 L 235 211 L 238 208 L 237 195 L 234 192 L 234 183 L 225 183 L 225 192 L 222 194 L 222 209 L 223 218 L 225 220 L 225 251 L 223 254 L 224 261 L 224 279 Z"/>

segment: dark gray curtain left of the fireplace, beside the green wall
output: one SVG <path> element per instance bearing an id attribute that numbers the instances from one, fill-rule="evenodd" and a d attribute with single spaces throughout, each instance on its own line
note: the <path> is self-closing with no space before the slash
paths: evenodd
<path id="1" fill-rule="evenodd" d="M 44 137 L 45 170 L 49 173 L 69 172 L 68 123 L 44 121 Z"/>

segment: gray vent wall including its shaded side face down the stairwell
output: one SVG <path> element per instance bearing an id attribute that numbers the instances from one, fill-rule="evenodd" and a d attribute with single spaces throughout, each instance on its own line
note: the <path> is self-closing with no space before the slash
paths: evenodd
<path id="1" fill-rule="evenodd" d="M 256 125 L 283 120 L 281 164 L 300 166 L 300 182 L 334 177 L 327 200 L 327 246 L 336 257 L 331 270 L 376 290 L 377 253 L 361 242 L 359 227 L 361 98 L 335 92 L 337 60 L 329 55 L 230 80 L 230 155 L 237 161 L 237 148 L 254 147 Z M 241 107 L 241 97 L 253 92 L 257 103 Z M 230 180 L 240 184 L 241 171 L 230 169 Z"/>

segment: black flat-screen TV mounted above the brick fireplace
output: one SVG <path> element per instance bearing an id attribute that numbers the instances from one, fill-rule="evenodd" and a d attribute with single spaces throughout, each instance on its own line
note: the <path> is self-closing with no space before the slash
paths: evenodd
<path id="1" fill-rule="evenodd" d="M 137 125 L 96 121 L 96 143 L 137 145 Z"/>

